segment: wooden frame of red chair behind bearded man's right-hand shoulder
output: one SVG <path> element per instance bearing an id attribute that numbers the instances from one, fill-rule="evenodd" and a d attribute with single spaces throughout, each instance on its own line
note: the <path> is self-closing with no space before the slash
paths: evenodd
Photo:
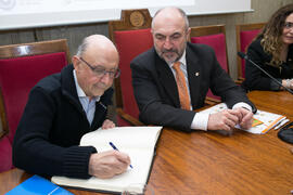
<path id="1" fill-rule="evenodd" d="M 217 35 L 217 34 L 224 34 L 226 37 L 225 25 L 219 24 L 219 25 L 191 27 L 190 39 L 191 37 L 201 37 L 201 36 L 209 36 L 209 35 Z M 226 42 L 226 58 L 227 58 L 227 72 L 229 74 L 230 70 L 229 70 L 229 62 L 228 62 L 227 42 Z M 208 105 L 213 105 L 219 102 L 220 102 L 219 100 L 213 99 L 211 96 L 206 96 L 205 99 L 205 103 Z"/>

